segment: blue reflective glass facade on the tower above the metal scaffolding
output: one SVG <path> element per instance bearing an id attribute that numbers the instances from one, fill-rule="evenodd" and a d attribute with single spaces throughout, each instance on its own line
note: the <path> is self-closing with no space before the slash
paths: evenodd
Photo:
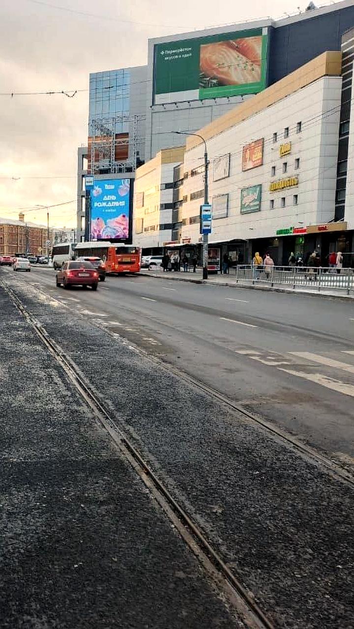
<path id="1" fill-rule="evenodd" d="M 129 107 L 130 70 L 108 70 L 89 75 L 89 135 L 93 120 L 129 114 Z M 127 131 L 127 124 L 116 126 L 116 133 Z"/>

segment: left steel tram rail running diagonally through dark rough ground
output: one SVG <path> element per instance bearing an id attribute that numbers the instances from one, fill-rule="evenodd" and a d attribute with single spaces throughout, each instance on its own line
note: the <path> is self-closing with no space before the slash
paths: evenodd
<path id="1" fill-rule="evenodd" d="M 168 487 L 156 476 L 149 463 L 140 454 L 139 450 L 137 450 L 127 435 L 125 435 L 122 428 L 117 425 L 111 412 L 106 409 L 105 404 L 98 399 L 98 396 L 93 391 L 89 382 L 86 381 L 86 378 L 81 375 L 75 363 L 62 351 L 60 345 L 50 337 L 43 325 L 30 313 L 25 304 L 21 302 L 21 299 L 18 298 L 8 284 L 0 281 L 0 286 L 7 292 L 14 306 L 35 331 L 43 345 L 60 365 L 67 378 L 74 384 L 96 420 L 108 431 L 113 442 L 118 447 L 118 450 L 120 450 L 123 457 L 132 465 L 135 473 L 140 477 L 142 482 L 144 482 L 154 499 L 156 499 L 166 516 L 168 516 L 171 524 L 178 530 L 191 552 L 197 557 L 220 594 L 227 599 L 229 605 L 234 608 L 237 615 L 241 616 L 249 629 L 275 629 L 273 622 L 254 601 L 253 594 L 249 593 L 242 582 L 229 567 L 227 567 L 217 550 L 208 542 L 202 529 L 195 524 L 185 509 L 173 498 Z M 161 364 L 164 365 L 164 363 Z"/>

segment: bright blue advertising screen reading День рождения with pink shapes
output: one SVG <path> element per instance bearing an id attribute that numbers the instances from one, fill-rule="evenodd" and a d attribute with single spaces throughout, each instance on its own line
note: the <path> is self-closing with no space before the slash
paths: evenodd
<path id="1" fill-rule="evenodd" d="M 130 179 L 95 181 L 91 196 L 91 240 L 129 237 Z"/>

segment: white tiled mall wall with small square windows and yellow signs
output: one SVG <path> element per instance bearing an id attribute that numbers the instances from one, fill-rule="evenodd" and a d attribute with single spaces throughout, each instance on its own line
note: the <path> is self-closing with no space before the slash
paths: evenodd
<path id="1" fill-rule="evenodd" d="M 277 230 L 290 226 L 318 225 L 333 220 L 340 99 L 341 77 L 324 76 L 208 139 L 209 201 L 212 202 L 217 195 L 229 195 L 227 217 L 213 220 L 209 237 L 211 243 L 228 242 L 235 238 L 271 238 L 277 235 Z M 300 132 L 297 132 L 298 123 L 301 123 Z M 289 135 L 284 137 L 287 128 Z M 274 133 L 277 133 L 277 142 L 273 142 Z M 264 138 L 263 164 L 243 172 L 243 147 L 260 138 Z M 291 142 L 291 151 L 280 157 L 280 145 L 287 142 Z M 203 164 L 203 153 L 202 144 L 185 153 L 184 169 L 188 178 L 183 194 L 188 195 L 188 202 L 183 204 L 186 224 L 182 228 L 182 237 L 191 238 L 191 242 L 195 243 L 200 237 L 199 224 L 193 222 L 190 225 L 188 222 L 190 218 L 196 220 L 202 198 L 191 201 L 190 195 L 202 191 L 203 172 L 192 177 L 190 172 Z M 214 160 L 227 153 L 230 154 L 229 176 L 214 182 Z M 295 160 L 299 160 L 298 168 L 295 167 Z M 283 172 L 283 163 L 287 164 L 286 172 Z M 275 167 L 274 176 L 271 174 L 272 166 Z M 203 171 L 202 168 L 200 170 Z M 270 192 L 272 181 L 295 176 L 299 179 L 297 186 Z M 260 211 L 241 214 L 241 189 L 260 184 Z M 285 206 L 282 206 L 283 198 Z"/>

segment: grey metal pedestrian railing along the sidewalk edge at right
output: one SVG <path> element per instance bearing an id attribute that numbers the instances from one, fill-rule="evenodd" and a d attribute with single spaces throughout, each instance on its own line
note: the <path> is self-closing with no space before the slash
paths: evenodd
<path id="1" fill-rule="evenodd" d="M 231 270 L 231 269 L 230 269 Z M 338 289 L 350 294 L 354 291 L 353 269 L 329 267 L 265 267 L 264 265 L 238 265 L 236 282 L 287 286 L 296 289 L 308 287 L 312 290 Z"/>

